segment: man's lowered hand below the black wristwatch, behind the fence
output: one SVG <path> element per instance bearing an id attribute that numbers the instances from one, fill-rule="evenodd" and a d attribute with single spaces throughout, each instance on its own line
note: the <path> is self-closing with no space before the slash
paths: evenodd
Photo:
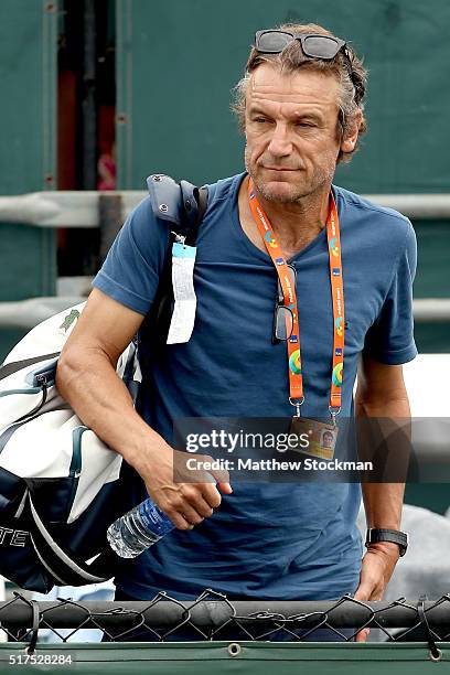
<path id="1" fill-rule="evenodd" d="M 362 560 L 360 586 L 353 598 L 363 601 L 382 600 L 399 555 L 397 544 L 390 542 L 371 544 Z M 355 642 L 365 642 L 368 632 L 369 629 L 360 631 Z"/>

